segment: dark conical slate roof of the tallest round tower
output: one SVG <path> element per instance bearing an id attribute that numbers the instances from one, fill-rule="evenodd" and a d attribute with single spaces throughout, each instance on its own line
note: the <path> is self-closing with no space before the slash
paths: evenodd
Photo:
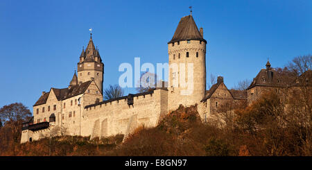
<path id="1" fill-rule="evenodd" d="M 202 40 L 206 42 L 200 34 L 200 31 L 198 31 L 192 15 L 181 18 L 177 25 L 177 29 L 175 30 L 175 34 L 168 44 L 182 40 Z"/>

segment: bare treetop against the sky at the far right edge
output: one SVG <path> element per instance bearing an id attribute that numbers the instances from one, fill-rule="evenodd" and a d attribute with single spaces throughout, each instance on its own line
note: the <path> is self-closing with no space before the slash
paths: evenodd
<path id="1" fill-rule="evenodd" d="M 286 67 L 288 67 L 288 69 L 290 69 L 291 71 L 295 72 L 297 76 L 300 76 L 304 73 L 304 71 L 308 71 L 309 69 L 311 70 L 311 60 L 311 54 L 308 54 L 306 56 L 297 56 L 293 58 L 291 62 L 288 62 L 288 65 L 286 65 Z"/>

